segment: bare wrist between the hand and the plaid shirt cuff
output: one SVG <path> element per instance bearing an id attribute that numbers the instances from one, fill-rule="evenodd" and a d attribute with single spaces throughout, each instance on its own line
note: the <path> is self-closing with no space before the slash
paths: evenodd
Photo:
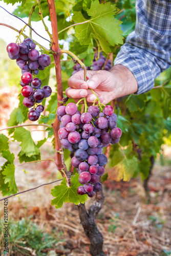
<path id="1" fill-rule="evenodd" d="M 123 65 L 115 65 L 110 71 L 114 76 L 114 98 L 123 97 L 138 91 L 138 83 L 133 73 Z"/>

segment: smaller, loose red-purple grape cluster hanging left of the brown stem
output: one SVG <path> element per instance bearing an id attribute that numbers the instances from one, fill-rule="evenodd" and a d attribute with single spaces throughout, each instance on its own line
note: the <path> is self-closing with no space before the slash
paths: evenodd
<path id="1" fill-rule="evenodd" d="M 31 38 L 26 38 L 19 45 L 11 42 L 7 46 L 7 52 L 10 59 L 16 59 L 16 63 L 22 70 L 20 86 L 22 86 L 22 95 L 25 97 L 23 104 L 27 108 L 32 108 L 28 113 L 31 121 L 36 121 L 40 113 L 44 111 L 44 106 L 40 103 L 44 98 L 51 95 L 52 89 L 49 86 L 41 88 L 41 80 L 36 78 L 39 70 L 44 70 L 51 63 L 47 54 L 39 55 L 35 49 L 36 44 Z"/>

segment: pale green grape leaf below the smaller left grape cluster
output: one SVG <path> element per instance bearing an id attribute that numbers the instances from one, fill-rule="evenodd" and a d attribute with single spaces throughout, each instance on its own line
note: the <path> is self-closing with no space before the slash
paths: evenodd
<path id="1" fill-rule="evenodd" d="M 19 153 L 20 156 L 23 156 L 24 154 L 27 157 L 39 155 L 39 148 L 35 145 L 30 132 L 24 127 L 18 127 L 17 129 L 15 129 L 13 138 L 18 142 L 22 142 L 20 144 L 20 146 L 22 147 L 22 150 Z"/>

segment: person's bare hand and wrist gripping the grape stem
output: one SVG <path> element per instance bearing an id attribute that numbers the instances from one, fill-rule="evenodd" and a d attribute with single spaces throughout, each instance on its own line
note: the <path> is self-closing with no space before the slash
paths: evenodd
<path id="1" fill-rule="evenodd" d="M 103 104 L 114 98 L 122 97 L 138 90 L 137 81 L 132 72 L 122 65 L 114 66 L 110 71 L 87 71 L 87 82 L 83 71 L 79 71 L 68 80 L 66 95 L 75 101 L 86 97 L 93 103 L 96 96 L 87 89 L 92 89 Z"/>

